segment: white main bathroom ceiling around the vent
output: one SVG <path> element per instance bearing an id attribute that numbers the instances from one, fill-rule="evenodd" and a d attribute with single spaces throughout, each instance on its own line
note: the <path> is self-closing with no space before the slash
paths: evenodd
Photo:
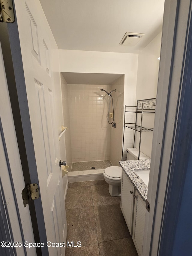
<path id="1" fill-rule="evenodd" d="M 164 0 L 40 0 L 59 49 L 139 53 L 162 30 Z M 126 32 L 143 33 L 135 46 Z"/>

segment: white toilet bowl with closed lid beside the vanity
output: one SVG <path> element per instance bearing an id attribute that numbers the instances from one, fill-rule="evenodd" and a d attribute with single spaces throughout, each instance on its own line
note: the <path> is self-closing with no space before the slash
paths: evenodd
<path id="1" fill-rule="evenodd" d="M 121 174 L 122 169 L 120 166 L 110 166 L 103 171 L 104 179 L 109 184 L 109 193 L 111 196 L 121 195 Z"/>

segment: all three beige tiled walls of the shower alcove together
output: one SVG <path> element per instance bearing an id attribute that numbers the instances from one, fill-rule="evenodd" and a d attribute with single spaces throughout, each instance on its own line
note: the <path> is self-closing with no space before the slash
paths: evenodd
<path id="1" fill-rule="evenodd" d="M 107 122 L 109 96 L 101 89 L 108 92 L 116 89 L 112 95 L 117 128 Z M 64 126 L 68 127 L 67 165 L 99 160 L 110 160 L 117 165 L 122 154 L 124 75 L 112 85 L 67 85 L 61 74 L 61 90 Z"/>

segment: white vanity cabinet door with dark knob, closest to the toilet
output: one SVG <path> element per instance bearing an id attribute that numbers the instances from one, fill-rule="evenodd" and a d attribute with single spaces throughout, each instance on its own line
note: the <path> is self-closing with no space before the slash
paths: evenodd
<path id="1" fill-rule="evenodd" d="M 122 170 L 121 184 L 121 210 L 127 223 L 130 234 L 133 233 L 133 210 L 134 210 L 134 186 L 128 176 Z M 130 192 L 131 191 L 131 192 Z M 132 193 L 132 194 L 131 194 Z"/>

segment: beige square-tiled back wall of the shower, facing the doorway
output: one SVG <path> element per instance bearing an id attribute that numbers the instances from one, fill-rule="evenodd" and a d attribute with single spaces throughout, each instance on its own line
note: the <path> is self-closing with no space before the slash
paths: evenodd
<path id="1" fill-rule="evenodd" d="M 110 85 L 68 85 L 73 162 L 110 159 L 107 93 Z"/>

